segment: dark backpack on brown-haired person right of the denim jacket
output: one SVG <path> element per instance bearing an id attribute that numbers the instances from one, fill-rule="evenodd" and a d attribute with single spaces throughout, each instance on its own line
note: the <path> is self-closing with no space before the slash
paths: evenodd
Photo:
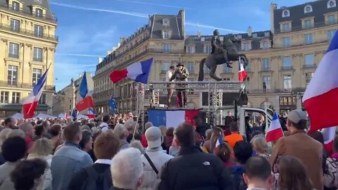
<path id="1" fill-rule="evenodd" d="M 113 182 L 111 181 L 111 170 L 109 167 L 102 173 L 97 173 L 94 167 L 85 167 L 88 178 L 82 184 L 82 190 L 109 190 Z"/>

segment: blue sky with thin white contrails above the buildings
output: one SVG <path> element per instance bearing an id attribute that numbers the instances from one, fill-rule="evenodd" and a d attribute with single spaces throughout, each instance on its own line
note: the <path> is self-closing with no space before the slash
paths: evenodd
<path id="1" fill-rule="evenodd" d="M 280 6 L 303 4 L 304 0 L 278 0 Z M 99 56 L 148 23 L 148 15 L 176 15 L 185 10 L 186 34 L 221 34 L 270 30 L 268 0 L 51 0 L 51 10 L 58 17 L 56 48 L 56 90 L 77 79 L 81 72 L 94 75 Z"/>

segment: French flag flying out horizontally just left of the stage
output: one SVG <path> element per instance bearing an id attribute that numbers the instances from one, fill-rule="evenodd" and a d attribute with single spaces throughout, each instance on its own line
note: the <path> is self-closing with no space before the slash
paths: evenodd
<path id="1" fill-rule="evenodd" d="M 151 65 L 153 64 L 153 58 L 149 58 L 146 61 L 140 61 L 132 63 L 123 70 L 113 70 L 111 72 L 111 81 L 113 83 L 123 80 L 125 77 L 135 80 L 136 82 L 148 83 L 149 73 Z"/>

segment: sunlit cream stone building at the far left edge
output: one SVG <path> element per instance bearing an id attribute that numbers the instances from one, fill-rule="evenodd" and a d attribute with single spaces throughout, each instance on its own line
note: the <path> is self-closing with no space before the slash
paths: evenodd
<path id="1" fill-rule="evenodd" d="M 22 110 L 47 68 L 37 113 L 51 113 L 56 26 L 47 0 L 0 0 L 0 118 Z"/>

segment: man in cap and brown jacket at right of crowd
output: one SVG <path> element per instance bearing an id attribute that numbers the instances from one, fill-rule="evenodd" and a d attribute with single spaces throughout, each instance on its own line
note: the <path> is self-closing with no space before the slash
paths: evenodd
<path id="1" fill-rule="evenodd" d="M 273 147 L 270 164 L 274 165 L 278 156 L 294 156 L 306 167 L 314 189 L 323 189 L 323 144 L 306 134 L 308 117 L 302 110 L 292 110 L 287 115 L 287 130 L 290 136 L 278 139 Z"/>

